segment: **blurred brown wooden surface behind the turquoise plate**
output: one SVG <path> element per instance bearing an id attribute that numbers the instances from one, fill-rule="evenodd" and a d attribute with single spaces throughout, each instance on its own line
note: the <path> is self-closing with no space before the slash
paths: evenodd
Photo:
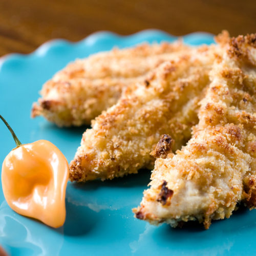
<path id="1" fill-rule="evenodd" d="M 29 53 L 52 38 L 80 40 L 99 31 L 143 29 L 232 36 L 256 32 L 256 0 L 0 0 L 0 56 Z"/>

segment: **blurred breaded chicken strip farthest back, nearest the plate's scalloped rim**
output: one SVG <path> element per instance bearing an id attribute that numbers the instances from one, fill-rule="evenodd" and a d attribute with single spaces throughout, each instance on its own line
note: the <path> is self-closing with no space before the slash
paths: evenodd
<path id="1" fill-rule="evenodd" d="M 117 102 L 128 84 L 142 80 L 148 71 L 188 49 L 181 41 L 144 44 L 76 60 L 44 84 L 32 117 L 42 115 L 58 126 L 90 124 Z"/>

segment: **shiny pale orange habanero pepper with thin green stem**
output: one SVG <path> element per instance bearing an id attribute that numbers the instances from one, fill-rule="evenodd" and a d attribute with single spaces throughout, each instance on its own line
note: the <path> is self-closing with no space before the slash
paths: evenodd
<path id="1" fill-rule="evenodd" d="M 8 205 L 20 215 L 54 228 L 62 226 L 69 178 L 66 157 L 47 140 L 20 143 L 7 121 L 0 118 L 16 143 L 2 166 L 2 187 Z"/>

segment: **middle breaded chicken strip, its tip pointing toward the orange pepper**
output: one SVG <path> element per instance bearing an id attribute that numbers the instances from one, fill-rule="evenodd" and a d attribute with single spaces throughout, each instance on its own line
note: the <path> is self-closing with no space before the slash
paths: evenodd
<path id="1" fill-rule="evenodd" d="M 152 168 L 155 158 L 150 153 L 165 133 L 172 136 L 174 150 L 181 148 L 198 122 L 198 102 L 219 51 L 215 45 L 190 49 L 127 88 L 83 134 L 70 164 L 70 179 L 113 179 Z"/>

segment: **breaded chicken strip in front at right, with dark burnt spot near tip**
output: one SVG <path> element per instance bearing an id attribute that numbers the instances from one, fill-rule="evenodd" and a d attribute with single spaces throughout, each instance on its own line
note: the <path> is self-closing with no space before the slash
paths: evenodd
<path id="1" fill-rule="evenodd" d="M 193 137 L 155 162 L 138 219 L 152 224 L 229 218 L 256 206 L 256 34 L 230 40 L 216 60 Z"/>

